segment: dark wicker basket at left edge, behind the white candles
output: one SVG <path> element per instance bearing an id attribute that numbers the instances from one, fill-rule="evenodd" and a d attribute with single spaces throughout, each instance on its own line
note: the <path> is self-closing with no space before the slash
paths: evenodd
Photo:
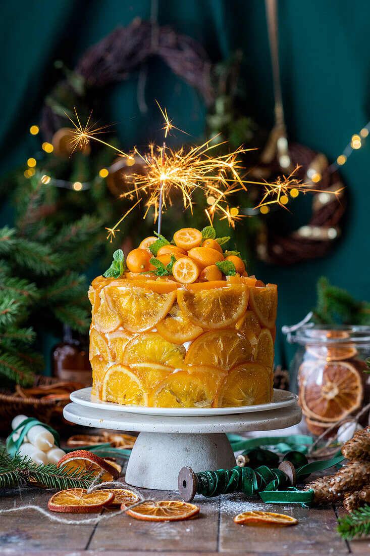
<path id="1" fill-rule="evenodd" d="M 36 375 L 33 385 L 41 386 L 60 382 L 54 376 Z M 63 424 L 63 408 L 69 400 L 42 400 L 37 398 L 21 398 L 18 394 L 0 392 L 0 429 L 9 430 L 12 419 L 19 414 L 35 417 L 48 425 Z"/>

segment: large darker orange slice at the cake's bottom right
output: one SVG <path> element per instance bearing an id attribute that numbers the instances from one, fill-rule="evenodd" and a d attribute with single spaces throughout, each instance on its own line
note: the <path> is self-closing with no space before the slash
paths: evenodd
<path id="1" fill-rule="evenodd" d="M 234 367 L 217 390 L 214 407 L 267 404 L 272 398 L 271 376 L 259 363 Z"/>

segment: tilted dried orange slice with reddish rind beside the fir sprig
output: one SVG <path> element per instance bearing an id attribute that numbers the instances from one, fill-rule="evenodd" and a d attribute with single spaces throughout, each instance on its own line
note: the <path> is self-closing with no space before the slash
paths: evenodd
<path id="1" fill-rule="evenodd" d="M 69 454 L 63 455 L 57 463 L 57 467 L 65 467 L 67 470 L 76 471 L 77 469 L 85 469 L 87 473 L 92 473 L 98 476 L 102 470 L 105 471 L 101 477 L 102 483 L 104 481 L 113 481 L 118 479 L 118 469 L 113 467 L 110 463 L 103 458 L 92 454 L 87 450 L 75 450 Z"/>

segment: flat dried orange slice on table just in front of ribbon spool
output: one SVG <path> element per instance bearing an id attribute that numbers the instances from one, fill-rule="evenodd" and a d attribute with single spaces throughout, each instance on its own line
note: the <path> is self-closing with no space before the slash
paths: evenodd
<path id="1" fill-rule="evenodd" d="M 121 510 L 126 510 L 122 504 Z M 179 500 L 161 500 L 160 502 L 143 502 L 136 508 L 128 509 L 128 515 L 146 521 L 182 521 L 193 519 L 199 513 L 199 507 Z"/>

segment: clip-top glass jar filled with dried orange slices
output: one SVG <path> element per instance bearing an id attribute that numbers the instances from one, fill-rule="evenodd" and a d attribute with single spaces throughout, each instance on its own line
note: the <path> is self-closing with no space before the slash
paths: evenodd
<path id="1" fill-rule="evenodd" d="M 298 345 L 290 369 L 291 390 L 299 396 L 304 431 L 323 434 L 369 403 L 370 326 L 309 322 L 282 330 L 289 343 Z"/>

